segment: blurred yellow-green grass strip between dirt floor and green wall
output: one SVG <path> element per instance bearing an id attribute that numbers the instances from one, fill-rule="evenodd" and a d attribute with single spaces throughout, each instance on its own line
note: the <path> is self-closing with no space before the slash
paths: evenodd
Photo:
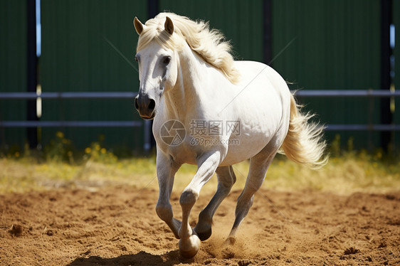
<path id="1" fill-rule="evenodd" d="M 98 154 L 90 152 L 98 151 Z M 38 163 L 31 156 L 0 159 L 0 193 L 46 190 L 52 188 L 95 189 L 103 186 L 132 186 L 157 188 L 154 156 L 149 158 L 116 159 L 95 144 L 93 151 L 80 163 L 45 160 Z M 96 157 L 97 156 L 97 157 Z M 248 161 L 233 166 L 237 181 L 233 189 L 241 189 L 246 182 Z M 180 192 L 196 173 L 196 166 L 179 169 L 174 191 Z M 204 189 L 216 189 L 216 176 Z M 268 169 L 263 188 L 279 191 L 315 189 L 348 194 L 356 191 L 385 193 L 400 190 L 400 162 L 389 163 L 381 156 L 349 152 L 334 156 L 321 170 L 313 171 L 278 156 Z"/>

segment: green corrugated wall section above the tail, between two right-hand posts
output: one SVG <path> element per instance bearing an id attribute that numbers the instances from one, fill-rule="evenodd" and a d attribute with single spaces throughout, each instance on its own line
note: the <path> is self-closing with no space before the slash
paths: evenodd
<path id="1" fill-rule="evenodd" d="M 293 89 L 379 90 L 380 1 L 273 1 L 273 62 Z M 379 100 L 303 98 L 327 124 L 379 124 Z M 340 133 L 342 144 L 354 137 L 356 147 L 377 147 L 379 132 Z M 372 144 L 368 137 L 371 134 Z"/>

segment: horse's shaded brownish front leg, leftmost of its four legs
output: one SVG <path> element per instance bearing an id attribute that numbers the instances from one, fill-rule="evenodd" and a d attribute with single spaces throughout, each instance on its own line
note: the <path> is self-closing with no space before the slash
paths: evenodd
<path id="1" fill-rule="evenodd" d="M 178 230 L 181 228 L 181 221 L 174 218 L 172 212 L 171 198 L 172 186 L 174 186 L 174 176 L 177 173 L 180 164 L 176 164 L 167 155 L 157 151 L 157 179 L 159 183 L 159 197 L 156 206 L 156 212 L 159 218 L 171 228 L 175 238 L 179 239 Z"/>

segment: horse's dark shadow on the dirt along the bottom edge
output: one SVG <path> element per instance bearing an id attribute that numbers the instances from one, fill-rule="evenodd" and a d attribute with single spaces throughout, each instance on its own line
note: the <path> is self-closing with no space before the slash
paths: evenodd
<path id="1" fill-rule="evenodd" d="M 164 260 L 162 259 L 164 257 Z M 179 251 L 174 250 L 164 255 L 152 255 L 150 253 L 140 251 L 134 255 L 120 255 L 119 257 L 102 258 L 98 256 L 78 257 L 68 266 L 83 265 L 177 265 L 182 262 Z"/>

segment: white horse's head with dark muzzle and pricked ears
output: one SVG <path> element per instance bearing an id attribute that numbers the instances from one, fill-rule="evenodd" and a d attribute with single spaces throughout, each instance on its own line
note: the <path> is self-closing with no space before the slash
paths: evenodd
<path id="1" fill-rule="evenodd" d="M 139 65 L 140 88 L 135 98 L 135 107 L 144 119 L 153 119 L 159 100 L 164 91 L 170 90 L 177 82 L 177 53 L 170 43 L 174 23 L 166 16 L 164 25 L 149 26 L 137 18 L 134 25 L 139 34 L 135 59 Z"/>

